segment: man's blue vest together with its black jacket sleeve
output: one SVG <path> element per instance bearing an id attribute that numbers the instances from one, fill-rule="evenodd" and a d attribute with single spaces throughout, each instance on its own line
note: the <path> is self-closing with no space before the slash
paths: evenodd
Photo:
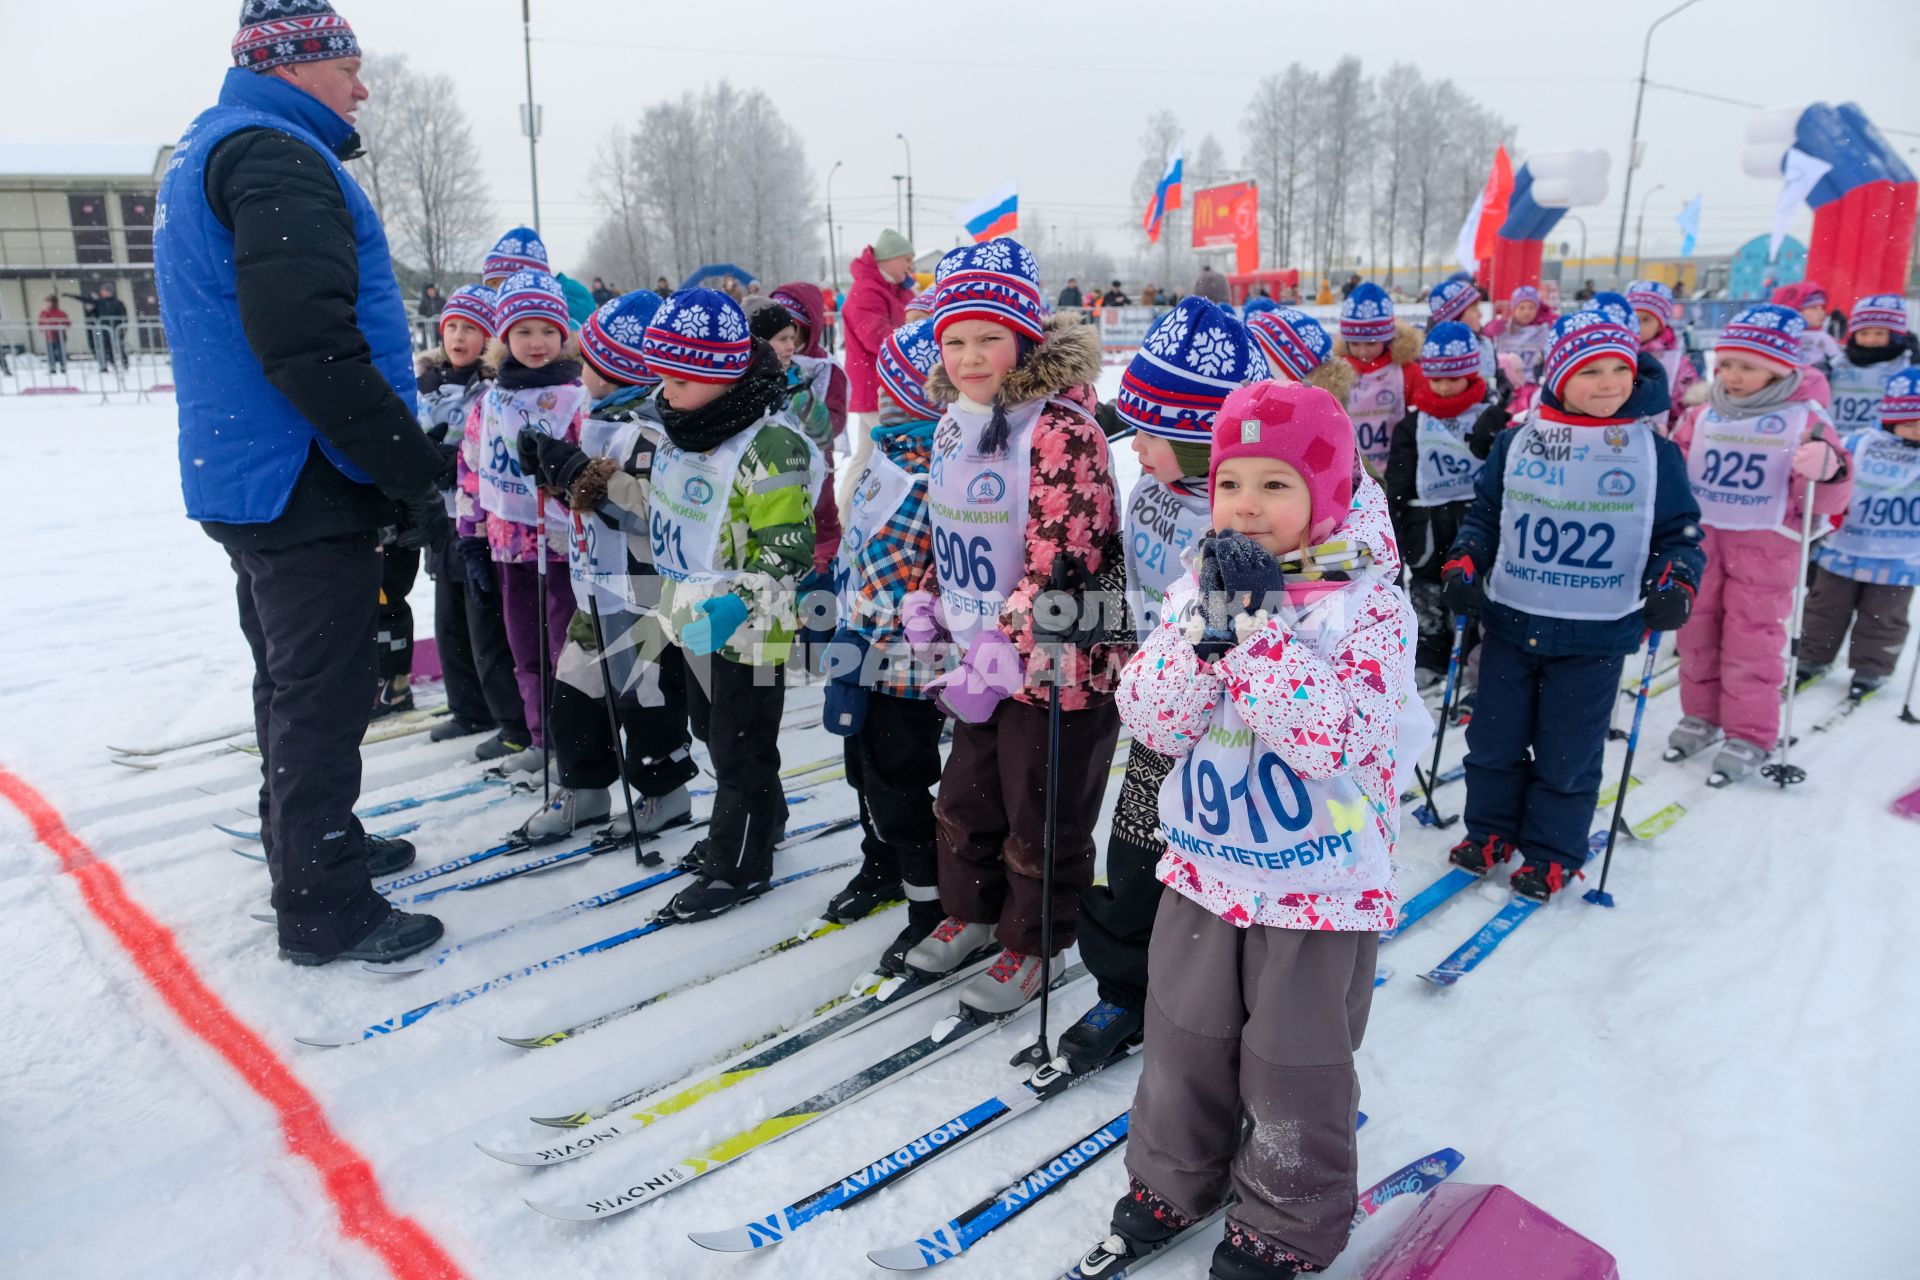
<path id="1" fill-rule="evenodd" d="M 396 438 L 399 422 L 419 436 L 413 344 L 380 219 L 336 159 L 351 138 L 317 98 L 234 67 L 167 167 L 154 274 L 194 520 L 278 520 L 309 461 L 338 472 L 332 486 L 388 497 L 432 480 L 424 438 Z M 265 142 L 236 177 L 227 157 L 242 140 Z M 323 505 L 365 524 L 369 499 L 330 491 Z"/>

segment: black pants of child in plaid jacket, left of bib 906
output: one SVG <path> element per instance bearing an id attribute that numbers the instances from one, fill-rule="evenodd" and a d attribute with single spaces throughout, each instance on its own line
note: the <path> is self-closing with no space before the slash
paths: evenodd
<path id="1" fill-rule="evenodd" d="M 860 879 L 899 881 L 916 923 L 933 927 L 941 908 L 933 789 L 941 783 L 941 723 L 931 699 L 870 693 L 866 723 L 847 739 L 847 785 L 860 802 Z"/>

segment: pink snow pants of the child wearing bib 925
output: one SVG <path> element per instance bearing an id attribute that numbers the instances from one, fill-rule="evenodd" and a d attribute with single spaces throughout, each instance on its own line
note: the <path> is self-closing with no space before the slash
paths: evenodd
<path id="1" fill-rule="evenodd" d="M 1772 750 L 1799 541 L 1774 530 L 1705 532 L 1707 572 L 1680 628 L 1680 710 Z"/>

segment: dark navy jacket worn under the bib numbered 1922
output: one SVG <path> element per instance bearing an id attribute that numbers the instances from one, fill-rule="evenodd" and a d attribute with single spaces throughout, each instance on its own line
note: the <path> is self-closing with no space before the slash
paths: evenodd
<path id="1" fill-rule="evenodd" d="M 1651 367 L 1651 368 L 1649 368 Z M 1559 405 L 1542 391 L 1542 401 Z M 1667 395 L 1667 372 L 1649 355 L 1640 357 L 1634 393 L 1620 409 L 1622 418 L 1667 420 L 1672 405 Z M 1501 432 L 1494 438 L 1494 449 L 1486 457 L 1480 480 L 1475 482 L 1475 501 L 1467 507 L 1459 533 L 1453 537 L 1450 558 L 1469 557 L 1475 574 L 1486 574 L 1500 549 L 1500 509 L 1507 478 L 1507 449 L 1513 447 L 1517 432 Z M 1657 436 L 1653 441 L 1655 480 L 1653 480 L 1653 539 L 1647 549 L 1647 568 L 1642 576 L 1644 587 L 1653 587 L 1663 574 L 1672 570 L 1672 578 L 1688 587 L 1699 583 L 1707 568 L 1707 553 L 1701 551 L 1699 503 L 1686 480 L 1686 455 L 1670 439 Z M 1565 658 L 1574 654 L 1628 654 L 1640 647 L 1645 622 L 1640 610 L 1613 622 L 1592 618 L 1548 618 L 1528 614 L 1498 601 L 1480 601 L 1480 626 L 1501 637 L 1509 645 L 1546 658 Z"/>

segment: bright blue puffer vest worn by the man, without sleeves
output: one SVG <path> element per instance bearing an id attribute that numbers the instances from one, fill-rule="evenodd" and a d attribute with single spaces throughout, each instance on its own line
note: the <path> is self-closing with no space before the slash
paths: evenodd
<path id="1" fill-rule="evenodd" d="M 305 142 L 340 182 L 359 255 L 359 328 L 374 367 L 415 407 L 413 342 L 386 232 L 359 182 L 334 159 L 332 148 L 353 127 L 286 81 L 232 67 L 219 106 L 202 111 L 180 136 L 154 219 L 159 320 L 173 347 L 180 409 L 180 491 L 188 516 L 219 524 L 278 518 L 313 441 L 348 478 L 371 484 L 267 382 L 240 326 L 234 236 L 207 205 L 205 171 L 221 140 L 242 129 L 273 129 Z"/>

